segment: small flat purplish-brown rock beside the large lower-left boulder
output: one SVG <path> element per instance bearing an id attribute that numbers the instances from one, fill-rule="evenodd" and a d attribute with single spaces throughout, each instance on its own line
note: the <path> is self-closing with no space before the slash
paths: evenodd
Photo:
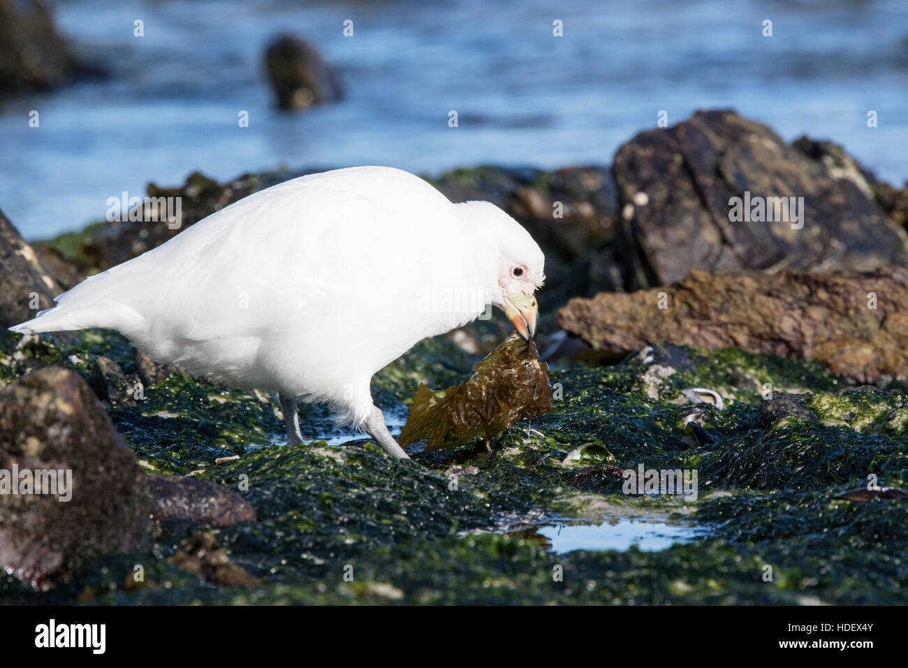
<path id="1" fill-rule="evenodd" d="M 220 484 L 179 475 L 150 475 L 157 522 L 185 520 L 213 526 L 255 522 L 255 510 L 240 494 Z"/>

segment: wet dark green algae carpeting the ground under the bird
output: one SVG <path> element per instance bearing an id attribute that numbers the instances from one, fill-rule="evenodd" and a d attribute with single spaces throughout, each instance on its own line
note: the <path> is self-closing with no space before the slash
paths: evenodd
<path id="1" fill-rule="evenodd" d="M 115 335 L 40 345 L 30 360 L 87 374 L 104 353 L 132 372 L 128 344 Z M 881 486 L 908 483 L 904 394 L 847 387 L 815 364 L 734 349 L 684 353 L 690 365 L 662 379 L 656 398 L 637 358 L 553 367 L 549 414 L 501 434 L 491 454 L 466 445 L 416 454 L 416 463 L 368 443 L 271 445 L 281 422 L 270 397 L 173 375 L 110 413 L 146 467 L 198 472 L 252 503 L 258 522 L 214 532 L 261 584 L 217 586 L 168 563 L 183 528 L 163 533 L 153 553 L 110 557 L 56 592 L 28 593 L 7 580 L 0 595 L 64 603 L 903 603 L 908 504 L 833 497 L 870 475 Z M 386 414 L 400 411 L 419 383 L 459 383 L 479 357 L 445 338 L 423 342 L 377 374 L 376 401 Z M 774 394 L 809 393 L 804 405 L 816 419 L 761 421 L 764 384 Z M 681 392 L 691 386 L 715 389 L 728 405 L 686 403 Z M 320 411 L 301 410 L 304 431 L 328 419 Z M 686 424 L 692 411 L 700 440 Z M 578 448 L 581 456 L 569 459 Z M 240 459 L 213 465 L 223 454 Z M 639 464 L 696 468 L 697 501 L 623 494 L 621 471 Z M 625 513 L 706 532 L 659 552 L 568 554 L 514 534 L 555 517 L 592 523 Z M 145 568 L 141 586 L 129 581 L 135 563 Z"/>

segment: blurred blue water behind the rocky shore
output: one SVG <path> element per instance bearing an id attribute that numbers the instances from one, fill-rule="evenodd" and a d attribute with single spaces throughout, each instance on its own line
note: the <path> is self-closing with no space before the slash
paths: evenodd
<path id="1" fill-rule="evenodd" d="M 734 107 L 786 139 L 833 138 L 888 180 L 908 176 L 905 0 L 70 0 L 56 16 L 111 76 L 0 103 L 0 207 L 28 238 L 196 169 L 607 164 L 662 109 L 674 125 Z M 281 30 L 340 68 L 343 102 L 272 108 L 262 51 Z"/>

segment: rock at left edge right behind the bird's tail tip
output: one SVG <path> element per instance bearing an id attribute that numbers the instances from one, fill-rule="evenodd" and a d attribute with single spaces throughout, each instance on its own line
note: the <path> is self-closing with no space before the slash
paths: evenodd
<path id="1" fill-rule="evenodd" d="M 50 308 L 61 292 L 32 246 L 0 211 L 0 339 L 8 336 L 7 327 Z"/>

